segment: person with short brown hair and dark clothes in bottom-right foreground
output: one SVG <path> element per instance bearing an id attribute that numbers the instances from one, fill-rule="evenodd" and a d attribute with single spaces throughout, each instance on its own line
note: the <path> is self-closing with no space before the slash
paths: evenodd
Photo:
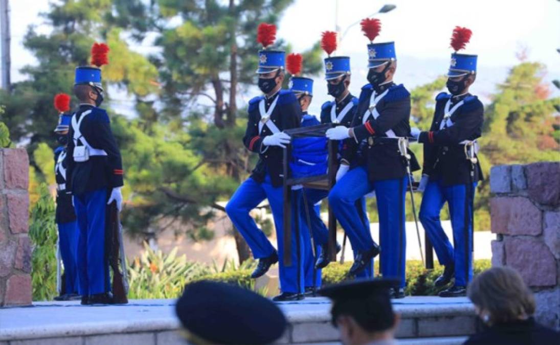
<path id="1" fill-rule="evenodd" d="M 515 269 L 493 267 L 467 289 L 475 311 L 487 326 L 465 344 L 558 344 L 560 333 L 535 323 L 535 299 Z"/>

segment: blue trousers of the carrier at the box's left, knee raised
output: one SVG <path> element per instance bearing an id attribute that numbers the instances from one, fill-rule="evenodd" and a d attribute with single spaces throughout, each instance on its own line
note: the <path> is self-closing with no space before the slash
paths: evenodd
<path id="1" fill-rule="evenodd" d="M 274 247 L 270 244 L 267 236 L 264 235 L 257 226 L 253 218 L 249 215 L 251 209 L 258 206 L 264 199 L 268 199 L 272 216 L 274 218 L 274 226 L 276 227 L 276 237 L 278 240 L 278 262 L 280 276 L 280 290 L 282 292 L 304 292 L 304 274 L 303 274 L 303 249 L 300 226 L 300 237 L 296 236 L 295 222 L 300 222 L 297 204 L 300 202 L 301 192 L 292 191 L 292 265 L 286 267 L 284 265 L 284 219 L 283 219 L 283 193 L 282 187 L 273 187 L 270 183 L 270 176 L 267 174 L 263 183 L 258 183 L 252 178 L 246 179 L 237 188 L 230 202 L 226 205 L 226 213 L 230 217 L 231 222 L 241 233 L 247 244 L 253 251 L 255 259 L 269 257 L 274 252 Z M 299 254 L 298 255 L 298 251 Z M 300 260 L 298 261 L 298 257 Z"/>

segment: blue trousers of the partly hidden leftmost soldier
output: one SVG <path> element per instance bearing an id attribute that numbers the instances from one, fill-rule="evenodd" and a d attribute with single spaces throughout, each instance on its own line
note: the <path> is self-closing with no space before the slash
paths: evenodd
<path id="1" fill-rule="evenodd" d="M 78 293 L 78 273 L 76 251 L 78 247 L 78 226 L 76 221 L 58 223 L 58 245 L 64 263 L 64 290 Z"/>

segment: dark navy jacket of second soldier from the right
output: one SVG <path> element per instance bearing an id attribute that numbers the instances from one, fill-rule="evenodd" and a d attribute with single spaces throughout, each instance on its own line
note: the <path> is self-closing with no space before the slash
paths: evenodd
<path id="1" fill-rule="evenodd" d="M 370 116 L 366 123 L 362 123 L 363 116 L 370 107 L 370 97 L 374 91 L 370 84 L 362 87 L 358 108 L 352 120 L 354 138 L 348 139 L 348 149 L 343 151 L 343 158 L 351 167 L 365 164 L 370 181 L 399 179 L 407 173 L 407 163 L 400 154 L 397 139 L 387 139 L 385 132 L 393 130 L 397 137 L 410 136 L 410 94 L 402 85 L 388 83 L 377 90 L 377 95 L 389 88 L 389 92 L 376 104 L 375 109 L 379 117 Z M 366 143 L 363 143 L 363 140 Z M 358 155 L 358 148 L 361 154 Z M 412 151 L 410 165 L 412 171 L 420 167 Z"/>

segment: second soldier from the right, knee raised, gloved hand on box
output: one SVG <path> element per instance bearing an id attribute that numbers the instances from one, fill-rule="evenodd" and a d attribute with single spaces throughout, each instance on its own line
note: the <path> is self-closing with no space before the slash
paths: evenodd
<path id="1" fill-rule="evenodd" d="M 354 207 L 358 199 L 375 189 L 382 246 L 381 274 L 399 280 L 391 296 L 401 298 L 405 285 L 404 199 L 408 176 L 404 158 L 407 152 L 399 151 L 398 138 L 410 135 L 410 94 L 402 84 L 393 82 L 394 43 L 370 43 L 367 48 L 369 83 L 362 87 L 352 125 L 337 126 L 326 132 L 329 139 L 346 140 L 348 148 L 343 152 L 343 159 L 349 164 L 348 172 L 330 191 L 329 203 L 344 230 L 353 229 L 364 240 L 350 269 L 351 273 L 357 273 L 380 253 Z"/>

